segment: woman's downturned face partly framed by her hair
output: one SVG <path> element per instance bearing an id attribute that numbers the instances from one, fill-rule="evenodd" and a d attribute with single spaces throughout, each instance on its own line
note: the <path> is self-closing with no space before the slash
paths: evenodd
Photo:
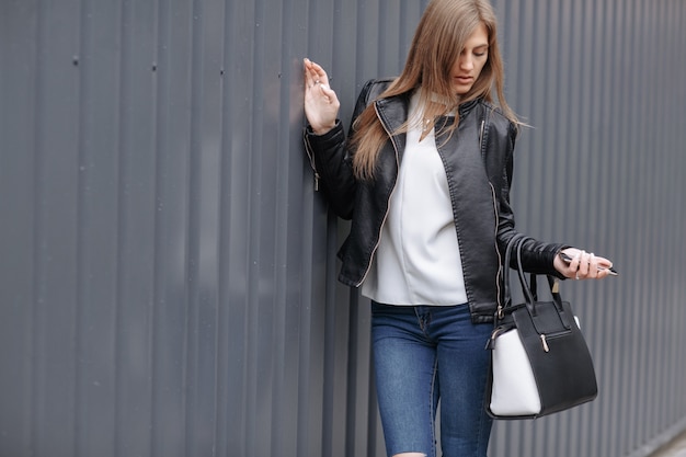
<path id="1" fill-rule="evenodd" d="M 489 34 L 485 26 L 480 24 L 465 43 L 457 61 L 453 64 L 450 77 L 455 93 L 462 95 L 469 92 L 488 59 Z"/>

